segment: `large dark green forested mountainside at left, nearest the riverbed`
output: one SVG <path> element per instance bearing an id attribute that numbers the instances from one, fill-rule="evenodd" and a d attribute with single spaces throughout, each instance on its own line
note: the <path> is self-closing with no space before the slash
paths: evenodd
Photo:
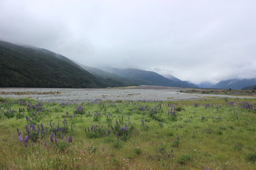
<path id="1" fill-rule="evenodd" d="M 62 55 L 0 41 L 0 86 L 99 88 L 107 84 Z"/>

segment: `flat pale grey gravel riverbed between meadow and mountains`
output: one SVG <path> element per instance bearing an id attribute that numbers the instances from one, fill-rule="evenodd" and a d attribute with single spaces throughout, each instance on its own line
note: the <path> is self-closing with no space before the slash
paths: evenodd
<path id="1" fill-rule="evenodd" d="M 0 88 L 2 98 L 33 98 L 41 102 L 82 103 L 94 101 L 180 101 L 208 97 L 251 98 L 214 94 L 184 94 L 180 88 L 169 89 L 38 89 Z"/>

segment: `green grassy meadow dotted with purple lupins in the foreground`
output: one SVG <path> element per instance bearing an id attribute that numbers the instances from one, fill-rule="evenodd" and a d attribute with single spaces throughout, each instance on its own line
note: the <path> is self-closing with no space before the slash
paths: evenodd
<path id="1" fill-rule="evenodd" d="M 256 99 L 0 98 L 0 169 L 256 169 Z"/>

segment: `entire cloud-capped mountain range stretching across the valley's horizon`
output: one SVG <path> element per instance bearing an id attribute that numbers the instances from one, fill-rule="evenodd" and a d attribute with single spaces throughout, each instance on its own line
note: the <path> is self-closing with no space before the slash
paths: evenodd
<path id="1" fill-rule="evenodd" d="M 0 41 L 0 86 L 2 87 L 71 87 L 102 88 L 114 86 L 154 85 L 186 88 L 242 89 L 254 86 L 255 79 L 229 79 L 196 86 L 171 74 L 162 76 L 142 69 L 117 69 L 77 64 L 50 50 L 14 45 Z M 253 88 L 253 87 L 252 87 Z"/>

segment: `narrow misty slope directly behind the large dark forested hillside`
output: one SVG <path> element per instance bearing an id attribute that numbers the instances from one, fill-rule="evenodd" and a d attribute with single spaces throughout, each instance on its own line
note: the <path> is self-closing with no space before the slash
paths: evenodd
<path id="1" fill-rule="evenodd" d="M 88 67 L 88 66 L 85 66 L 82 64 L 80 64 L 80 67 L 85 69 L 87 72 L 90 72 L 91 74 L 95 75 L 96 77 L 100 77 L 100 79 L 104 79 L 105 83 L 107 83 L 108 86 L 136 86 L 136 85 L 139 85 L 129 79 L 125 79 L 124 77 L 119 77 L 119 76 L 117 76 L 117 74 L 113 74 L 111 72 L 105 72 L 102 69 L 97 69 L 95 67 Z"/>

